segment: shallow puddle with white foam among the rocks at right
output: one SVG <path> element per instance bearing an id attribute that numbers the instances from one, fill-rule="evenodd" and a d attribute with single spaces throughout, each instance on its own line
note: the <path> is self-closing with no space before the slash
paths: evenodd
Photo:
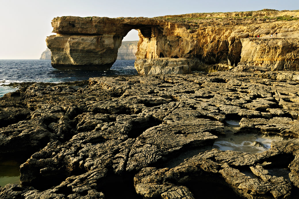
<path id="1" fill-rule="evenodd" d="M 226 151 L 240 151 L 245 153 L 261 153 L 271 148 L 271 141 L 282 140 L 277 136 L 256 135 L 248 133 L 234 134 L 239 129 L 239 121 L 227 120 L 224 128 L 226 136 L 218 136 L 213 148 Z"/>

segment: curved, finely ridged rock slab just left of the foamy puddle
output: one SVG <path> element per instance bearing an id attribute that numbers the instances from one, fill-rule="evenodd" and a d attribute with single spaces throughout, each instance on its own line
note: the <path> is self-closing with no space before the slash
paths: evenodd
<path id="1" fill-rule="evenodd" d="M 129 154 L 127 171 L 140 169 L 160 159 L 167 159 L 171 153 L 185 148 L 191 149 L 207 143 L 213 143 L 217 138 L 206 132 L 205 122 L 202 126 L 189 125 L 159 125 L 141 134 L 132 146 Z M 187 147 L 187 148 L 186 148 Z"/>

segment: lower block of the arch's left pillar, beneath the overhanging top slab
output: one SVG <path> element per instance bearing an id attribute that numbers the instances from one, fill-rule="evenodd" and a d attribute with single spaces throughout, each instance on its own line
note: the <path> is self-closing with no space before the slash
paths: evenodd
<path id="1" fill-rule="evenodd" d="M 122 37 L 57 34 L 47 38 L 51 63 L 59 70 L 107 70 L 117 58 Z"/>

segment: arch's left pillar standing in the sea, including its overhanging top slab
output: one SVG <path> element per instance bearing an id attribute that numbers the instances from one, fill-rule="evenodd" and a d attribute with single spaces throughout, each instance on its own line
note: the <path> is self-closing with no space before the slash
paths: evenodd
<path id="1" fill-rule="evenodd" d="M 134 27 L 143 30 L 144 24 L 153 24 L 149 22 L 150 19 L 138 23 L 140 19 L 73 16 L 54 18 L 53 32 L 57 35 L 46 39 L 52 52 L 52 66 L 59 70 L 109 69 L 117 59 L 123 37 Z"/>

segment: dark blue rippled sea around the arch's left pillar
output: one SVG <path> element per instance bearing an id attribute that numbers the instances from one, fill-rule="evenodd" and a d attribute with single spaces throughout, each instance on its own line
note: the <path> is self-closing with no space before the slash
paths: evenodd
<path id="1" fill-rule="evenodd" d="M 51 60 L 0 60 L 0 97 L 17 88 L 4 86 L 12 82 L 73 82 L 87 80 L 90 77 L 110 75 L 137 75 L 135 60 L 116 60 L 110 70 L 57 70 L 51 66 Z"/>

